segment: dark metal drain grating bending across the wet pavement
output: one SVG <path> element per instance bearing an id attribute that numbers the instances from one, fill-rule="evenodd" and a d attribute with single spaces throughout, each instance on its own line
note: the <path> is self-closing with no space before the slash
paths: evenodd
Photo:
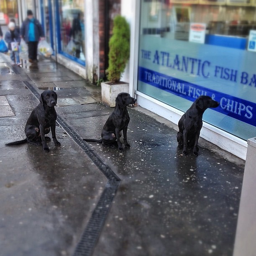
<path id="1" fill-rule="evenodd" d="M 28 81 L 23 81 L 33 95 L 39 100 L 40 93 Z M 115 194 L 120 184 L 119 177 L 113 172 L 110 167 L 97 155 L 93 148 L 82 139 L 82 137 L 74 130 L 59 114 L 57 114 L 57 123 L 67 132 L 75 143 L 84 151 L 90 160 L 97 166 L 102 174 L 108 179 L 108 182 L 100 196 L 97 205 L 92 212 L 92 216 L 82 234 L 82 237 L 74 251 L 74 256 L 90 256 L 93 253 L 100 232 L 104 226 L 108 216 L 111 203 L 114 200 Z"/>

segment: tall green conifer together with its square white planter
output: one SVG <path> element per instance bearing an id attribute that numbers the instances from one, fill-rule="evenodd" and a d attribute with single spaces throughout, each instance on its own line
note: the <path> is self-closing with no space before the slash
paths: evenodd
<path id="1" fill-rule="evenodd" d="M 115 107 L 115 98 L 120 92 L 129 92 L 129 84 L 120 82 L 125 65 L 130 57 L 130 28 L 124 17 L 114 18 L 113 36 L 109 41 L 109 82 L 101 83 L 102 102 Z"/>

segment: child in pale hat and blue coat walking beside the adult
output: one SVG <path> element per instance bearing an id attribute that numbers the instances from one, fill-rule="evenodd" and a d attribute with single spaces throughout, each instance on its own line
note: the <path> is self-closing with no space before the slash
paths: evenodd
<path id="1" fill-rule="evenodd" d="M 12 49 L 12 44 L 11 43 L 18 43 L 20 44 L 20 35 L 18 31 L 15 29 L 15 23 L 10 22 L 8 25 L 9 31 L 5 33 L 5 42 L 8 43 L 8 49 L 10 50 L 10 58 L 12 60 L 12 65 L 15 65 L 15 59 L 16 59 L 16 64 L 20 66 L 20 56 L 19 56 L 19 51 L 18 49 Z"/>

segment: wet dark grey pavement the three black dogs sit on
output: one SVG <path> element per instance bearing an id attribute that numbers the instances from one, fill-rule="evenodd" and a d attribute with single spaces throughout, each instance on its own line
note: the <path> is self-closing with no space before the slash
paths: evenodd
<path id="1" fill-rule="evenodd" d="M 49 153 L 4 144 L 24 138 L 38 104 L 22 81 L 56 90 L 57 113 L 82 138 L 100 138 L 113 108 L 100 103 L 100 87 L 54 61 L 30 67 L 11 69 L 0 55 L 0 103 L 15 114 L 0 117 L 0 256 L 73 255 L 109 179 L 59 126 L 61 147 L 48 142 Z M 244 161 L 201 138 L 199 156 L 183 156 L 175 125 L 140 107 L 128 111 L 131 148 L 90 143 L 121 180 L 106 220 L 97 217 L 93 255 L 231 256 Z"/>

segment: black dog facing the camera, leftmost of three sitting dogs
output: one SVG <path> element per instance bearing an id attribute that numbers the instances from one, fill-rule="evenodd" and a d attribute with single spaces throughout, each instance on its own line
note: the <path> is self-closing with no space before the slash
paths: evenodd
<path id="1" fill-rule="evenodd" d="M 33 109 L 25 126 L 27 138 L 22 141 L 15 141 L 5 145 L 20 145 L 26 142 L 36 146 L 41 146 L 41 144 L 43 144 L 44 151 L 49 152 L 46 140 L 50 141 L 51 139 L 49 137 L 45 137 L 45 134 L 50 132 L 51 127 L 51 135 L 54 144 L 55 146 L 60 146 L 55 134 L 57 114 L 54 106 L 56 106 L 56 103 L 56 92 L 52 90 L 42 92 L 40 96 L 40 103 Z"/>

